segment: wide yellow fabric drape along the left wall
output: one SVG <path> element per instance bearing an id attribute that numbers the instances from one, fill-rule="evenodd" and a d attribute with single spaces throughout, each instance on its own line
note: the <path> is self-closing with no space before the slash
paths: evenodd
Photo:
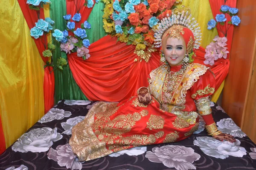
<path id="1" fill-rule="evenodd" d="M 6 147 L 44 115 L 44 69 L 17 0 L 1 0 L 0 114 Z"/>

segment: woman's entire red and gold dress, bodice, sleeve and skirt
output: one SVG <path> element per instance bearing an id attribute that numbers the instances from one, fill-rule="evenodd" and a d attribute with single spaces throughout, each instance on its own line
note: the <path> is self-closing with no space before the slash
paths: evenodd
<path id="1" fill-rule="evenodd" d="M 198 129 L 198 113 L 209 116 L 215 78 L 207 66 L 192 63 L 185 70 L 169 64 L 150 73 L 153 100 L 148 106 L 137 96 L 120 103 L 98 102 L 84 121 L 73 127 L 69 144 L 80 161 L 141 145 L 183 140 Z"/>

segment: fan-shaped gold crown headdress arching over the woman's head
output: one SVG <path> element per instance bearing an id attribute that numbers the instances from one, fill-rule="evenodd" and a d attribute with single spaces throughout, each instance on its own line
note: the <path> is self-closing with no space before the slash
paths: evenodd
<path id="1" fill-rule="evenodd" d="M 185 14 L 185 11 L 182 11 L 182 13 L 180 14 L 180 12 L 178 12 L 177 14 L 172 14 L 171 17 L 165 17 L 163 18 L 163 20 L 161 20 L 158 23 L 158 28 L 155 30 L 155 46 L 156 48 L 162 46 L 162 37 L 163 34 L 172 26 L 175 25 L 181 25 L 184 27 L 187 27 L 188 29 L 190 29 L 193 32 L 193 35 L 195 37 L 195 43 L 194 43 L 194 48 L 198 49 L 200 46 L 200 40 L 201 40 L 201 30 L 200 30 L 200 26 L 198 26 L 197 21 L 195 20 L 195 18 L 192 18 L 191 14 L 189 14 L 189 12 L 187 11 Z"/>

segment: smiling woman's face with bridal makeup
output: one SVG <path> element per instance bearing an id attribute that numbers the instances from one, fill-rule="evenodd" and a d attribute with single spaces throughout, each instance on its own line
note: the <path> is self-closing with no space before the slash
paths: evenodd
<path id="1" fill-rule="evenodd" d="M 182 37 L 180 39 L 169 37 L 166 40 L 166 47 L 163 49 L 166 61 L 170 66 L 182 64 L 186 54 L 186 45 Z"/>

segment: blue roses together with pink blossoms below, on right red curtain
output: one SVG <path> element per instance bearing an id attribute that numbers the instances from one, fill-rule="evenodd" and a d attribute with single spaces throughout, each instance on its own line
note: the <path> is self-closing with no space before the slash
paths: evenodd
<path id="1" fill-rule="evenodd" d="M 207 23 L 207 29 L 211 30 L 216 27 L 218 31 L 223 33 L 224 37 L 218 37 L 215 36 L 214 39 L 212 39 L 214 42 L 211 42 L 205 49 L 206 54 L 204 55 L 205 64 L 213 65 L 214 61 L 218 60 L 219 58 L 227 58 L 227 31 L 230 29 L 232 25 L 239 26 L 239 23 L 241 22 L 240 18 L 236 15 L 238 13 L 237 8 L 231 8 L 227 5 L 222 5 L 220 12 L 223 14 L 217 14 L 214 19 L 209 20 Z M 227 18 L 225 17 L 225 14 L 229 14 L 231 17 L 231 20 L 228 21 L 229 26 L 224 29 L 225 22 L 227 22 Z M 218 26 L 219 23 L 219 26 Z M 217 28 L 218 26 L 218 28 Z"/>

